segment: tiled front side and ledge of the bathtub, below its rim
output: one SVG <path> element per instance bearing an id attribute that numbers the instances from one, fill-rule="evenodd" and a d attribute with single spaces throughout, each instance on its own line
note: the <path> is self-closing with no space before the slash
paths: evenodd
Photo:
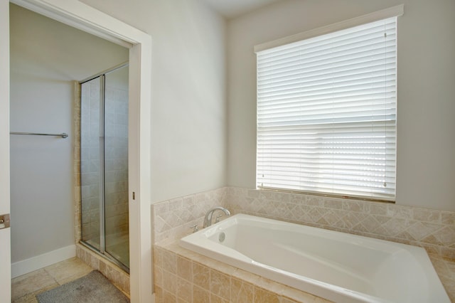
<path id="1" fill-rule="evenodd" d="M 154 245 L 156 303 L 328 302 L 176 244 Z"/>

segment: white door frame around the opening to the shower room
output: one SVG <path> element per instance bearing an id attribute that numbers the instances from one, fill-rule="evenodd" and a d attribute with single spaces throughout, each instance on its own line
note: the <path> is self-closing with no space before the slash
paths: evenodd
<path id="1" fill-rule="evenodd" d="M 151 188 L 151 36 L 97 11 L 80 1 L 11 0 L 38 14 L 61 21 L 74 28 L 92 33 L 107 41 L 129 48 L 129 205 L 130 230 L 130 288 L 132 302 L 153 300 L 151 283 L 151 218 L 149 216 Z M 0 174 L 2 213 L 9 213 L 9 1 L 0 4 L 0 161 L 4 170 Z M 134 121 L 134 123 L 131 123 Z M 135 195 L 134 195 L 135 193 Z M 135 197 L 135 198 L 134 198 Z M 2 268 L 0 289 L 4 299 L 11 297 L 11 245 L 10 230 L 3 230 L 0 238 L 5 245 L 0 249 Z"/>

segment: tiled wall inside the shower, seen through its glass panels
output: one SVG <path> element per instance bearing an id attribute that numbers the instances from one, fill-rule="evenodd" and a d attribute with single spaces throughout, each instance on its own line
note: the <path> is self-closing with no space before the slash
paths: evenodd
<path id="1" fill-rule="evenodd" d="M 82 240 L 100 245 L 100 83 L 86 83 L 82 100 Z M 128 235 L 128 92 L 106 87 L 105 95 L 105 227 L 111 245 Z"/>

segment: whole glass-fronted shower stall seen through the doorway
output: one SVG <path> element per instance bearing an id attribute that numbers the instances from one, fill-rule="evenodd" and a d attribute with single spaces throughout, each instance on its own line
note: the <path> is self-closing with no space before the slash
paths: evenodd
<path id="1" fill-rule="evenodd" d="M 128 64 L 80 82 L 80 243 L 129 272 Z"/>

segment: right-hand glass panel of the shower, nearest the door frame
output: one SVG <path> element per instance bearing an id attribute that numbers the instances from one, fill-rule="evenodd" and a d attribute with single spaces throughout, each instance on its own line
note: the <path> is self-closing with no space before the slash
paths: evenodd
<path id="1" fill-rule="evenodd" d="M 129 267 L 128 68 L 105 75 L 105 250 Z"/>

